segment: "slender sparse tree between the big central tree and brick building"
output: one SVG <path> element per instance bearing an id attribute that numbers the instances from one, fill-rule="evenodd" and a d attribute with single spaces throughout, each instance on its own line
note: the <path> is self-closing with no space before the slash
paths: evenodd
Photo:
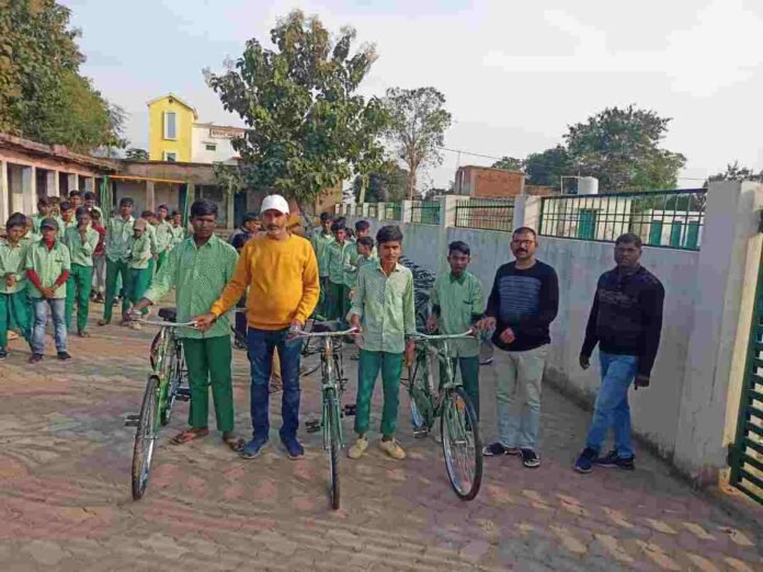
<path id="1" fill-rule="evenodd" d="M 408 198 L 412 201 L 419 170 L 442 163 L 440 147 L 451 114 L 445 111 L 445 95 L 434 88 L 392 88 L 387 90 L 386 103 L 390 115 L 387 137 L 408 167 Z"/>

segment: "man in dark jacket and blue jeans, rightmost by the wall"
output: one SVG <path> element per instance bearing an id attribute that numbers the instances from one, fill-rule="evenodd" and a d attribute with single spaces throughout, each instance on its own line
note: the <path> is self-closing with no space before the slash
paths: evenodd
<path id="1" fill-rule="evenodd" d="M 588 369 L 591 353 L 599 344 L 602 387 L 596 397 L 585 448 L 578 457 L 578 472 L 591 472 L 594 465 L 633 470 L 628 388 L 649 387 L 662 330 L 664 288 L 640 265 L 641 239 L 623 234 L 615 242 L 614 270 L 599 278 L 591 307 L 580 366 Z M 613 428 L 615 449 L 599 457 L 606 434 Z"/>

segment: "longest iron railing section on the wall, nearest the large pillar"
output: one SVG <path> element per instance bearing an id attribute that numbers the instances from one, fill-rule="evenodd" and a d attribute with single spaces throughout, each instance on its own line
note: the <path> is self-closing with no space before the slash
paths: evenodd
<path id="1" fill-rule="evenodd" d="M 614 242 L 625 232 L 645 245 L 699 250 L 706 188 L 543 197 L 540 234 Z"/>

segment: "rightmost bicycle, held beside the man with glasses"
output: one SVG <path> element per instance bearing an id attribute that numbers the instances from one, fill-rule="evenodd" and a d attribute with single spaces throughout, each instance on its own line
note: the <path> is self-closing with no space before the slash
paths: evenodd
<path id="1" fill-rule="evenodd" d="M 410 396 L 414 434 L 428 435 L 440 417 L 443 457 L 451 485 L 459 499 L 471 501 L 482 482 L 482 446 L 477 414 L 456 377 L 448 344 L 451 340 L 465 338 L 474 338 L 474 333 L 414 334 L 413 339 L 422 343 L 417 344 L 415 358 L 405 385 Z M 437 389 L 435 364 L 441 373 Z"/>

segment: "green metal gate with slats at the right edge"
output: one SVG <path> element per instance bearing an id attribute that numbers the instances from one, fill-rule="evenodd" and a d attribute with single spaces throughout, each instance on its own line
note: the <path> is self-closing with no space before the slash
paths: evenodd
<path id="1" fill-rule="evenodd" d="M 737 438 L 729 450 L 729 465 L 731 484 L 763 504 L 763 260 L 755 288 Z"/>

